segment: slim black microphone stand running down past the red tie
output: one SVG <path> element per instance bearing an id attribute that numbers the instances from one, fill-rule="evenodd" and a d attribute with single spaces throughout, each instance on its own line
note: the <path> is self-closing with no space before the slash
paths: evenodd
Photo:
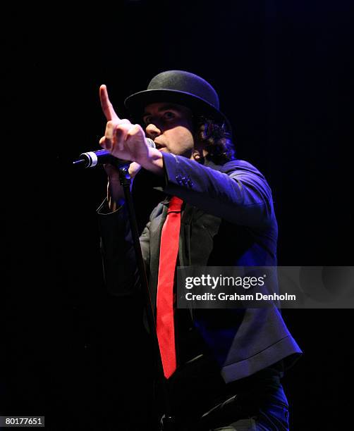
<path id="1" fill-rule="evenodd" d="M 154 313 L 152 311 L 152 304 L 149 294 L 149 285 L 147 283 L 147 276 L 145 272 L 144 261 L 142 259 L 142 251 L 140 247 L 140 239 L 138 232 L 138 224 L 135 218 L 135 210 L 133 206 L 133 198 L 130 191 L 131 178 L 128 171 L 129 165 L 122 165 L 118 168 L 119 170 L 119 180 L 123 186 L 124 197 L 126 199 L 126 205 L 128 208 L 128 218 L 130 223 L 130 230 L 133 237 L 133 245 L 135 249 L 135 256 L 138 266 L 138 273 L 140 275 L 140 282 L 142 285 L 142 294 L 144 295 L 146 313 L 147 313 L 147 323 L 149 325 L 150 334 L 152 336 L 152 344 L 154 348 L 154 356 L 157 361 L 157 381 L 159 387 L 161 387 L 164 395 L 164 417 L 162 419 L 163 430 L 173 431 L 175 429 L 175 420 L 171 414 L 171 404 L 169 401 L 169 392 L 166 385 L 166 377 L 164 376 L 164 368 L 161 361 L 161 353 L 159 349 L 159 340 L 157 339 L 156 323 L 154 319 Z"/>

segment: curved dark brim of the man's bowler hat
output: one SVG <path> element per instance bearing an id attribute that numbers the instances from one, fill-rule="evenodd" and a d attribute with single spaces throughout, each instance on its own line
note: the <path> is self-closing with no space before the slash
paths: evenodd
<path id="1" fill-rule="evenodd" d="M 124 105 L 128 109 L 133 122 L 142 123 L 142 114 L 144 113 L 145 106 L 162 102 L 171 102 L 186 106 L 195 114 L 205 115 L 216 120 L 216 123 L 225 123 L 228 131 L 231 132 L 231 124 L 221 111 L 200 97 L 187 92 L 172 89 L 144 90 L 128 96 L 124 101 Z"/>

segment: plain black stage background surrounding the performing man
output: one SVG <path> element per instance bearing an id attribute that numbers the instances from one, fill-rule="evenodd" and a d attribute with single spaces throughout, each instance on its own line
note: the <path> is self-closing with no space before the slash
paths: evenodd
<path id="1" fill-rule="evenodd" d="M 99 148 L 103 83 L 125 116 L 123 99 L 162 70 L 204 77 L 238 157 L 273 190 L 279 265 L 353 264 L 352 12 L 350 1 L 293 0 L 4 8 L 0 413 L 45 415 L 53 430 L 124 430 L 127 413 L 149 414 L 149 345 L 132 339 L 138 316 L 102 281 L 106 178 L 71 167 Z M 137 179 L 140 224 L 145 196 Z M 342 429 L 353 311 L 283 316 L 305 353 L 283 379 L 292 429 Z"/>

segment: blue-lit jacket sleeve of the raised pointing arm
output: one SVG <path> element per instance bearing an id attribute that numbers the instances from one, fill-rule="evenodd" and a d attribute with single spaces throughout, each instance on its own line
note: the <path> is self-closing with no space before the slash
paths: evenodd
<path id="1" fill-rule="evenodd" d="M 219 170 L 163 154 L 164 192 L 231 223 L 265 229 L 274 219 L 271 189 L 250 163 L 231 161 Z"/>

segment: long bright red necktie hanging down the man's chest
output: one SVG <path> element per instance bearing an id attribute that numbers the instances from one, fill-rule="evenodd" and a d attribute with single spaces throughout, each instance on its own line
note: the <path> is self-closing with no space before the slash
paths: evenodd
<path id="1" fill-rule="evenodd" d="M 162 366 L 167 379 L 176 370 L 173 282 L 178 254 L 182 203 L 183 201 L 178 197 L 171 197 L 167 217 L 161 232 L 156 325 Z"/>

